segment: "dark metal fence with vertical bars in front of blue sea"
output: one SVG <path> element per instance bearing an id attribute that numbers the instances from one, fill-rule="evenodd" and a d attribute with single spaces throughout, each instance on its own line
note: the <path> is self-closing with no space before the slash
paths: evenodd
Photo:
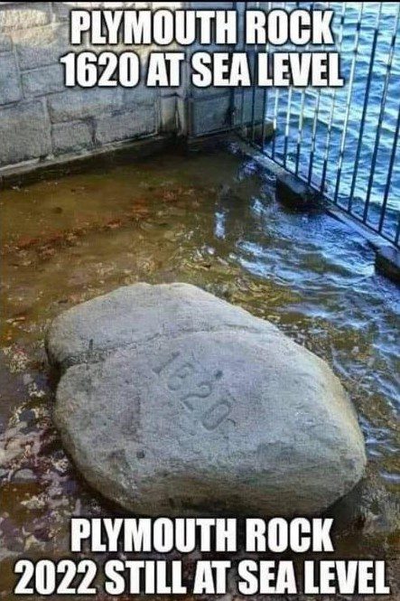
<path id="1" fill-rule="evenodd" d="M 291 11 L 317 3 L 259 5 Z M 242 109 L 252 103 L 249 139 L 275 163 L 399 248 L 400 3 L 318 3 L 323 7 L 335 11 L 333 29 L 345 86 L 255 87 L 251 97 L 242 92 Z M 274 52 L 256 52 L 265 50 Z M 255 109 L 260 93 L 261 126 Z"/>

